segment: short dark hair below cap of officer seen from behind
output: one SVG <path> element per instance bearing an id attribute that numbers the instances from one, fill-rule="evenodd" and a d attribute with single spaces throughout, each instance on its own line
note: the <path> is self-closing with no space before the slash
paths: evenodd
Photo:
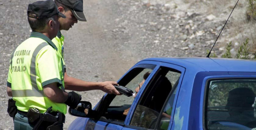
<path id="1" fill-rule="evenodd" d="M 29 14 L 34 15 L 33 12 L 29 12 Z M 49 18 L 43 18 L 43 19 L 36 19 L 36 18 L 28 17 L 28 23 L 33 32 L 40 32 L 40 31 L 44 30 L 44 28 L 46 27 L 46 24 L 50 20 L 52 20 L 54 23 L 56 23 L 56 21 L 58 20 L 58 17 L 55 17 L 55 15 L 53 15 Z"/>

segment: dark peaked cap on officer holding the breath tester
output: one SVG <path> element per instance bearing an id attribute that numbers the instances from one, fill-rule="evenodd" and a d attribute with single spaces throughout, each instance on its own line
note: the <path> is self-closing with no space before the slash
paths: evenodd
<path id="1" fill-rule="evenodd" d="M 82 0 L 56 0 L 59 3 L 69 7 L 73 15 L 79 21 L 86 21 L 83 13 L 83 1 Z"/>

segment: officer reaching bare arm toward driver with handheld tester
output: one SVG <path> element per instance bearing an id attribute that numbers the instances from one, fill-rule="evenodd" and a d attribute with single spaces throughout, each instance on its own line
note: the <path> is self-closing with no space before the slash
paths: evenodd
<path id="1" fill-rule="evenodd" d="M 79 21 L 86 21 L 83 14 L 83 1 L 82 0 L 55 0 L 59 12 L 65 14 L 66 18 L 59 17 L 60 28 L 59 30 L 69 30 L 75 23 Z M 59 31 L 57 36 L 53 38 L 52 42 L 58 48 L 58 53 L 64 58 L 63 45 L 64 36 Z M 65 65 L 65 63 L 64 63 Z M 64 68 L 65 69 L 65 68 Z M 76 79 L 67 75 L 65 69 L 65 89 L 75 91 L 88 91 L 88 90 L 102 90 L 108 94 L 120 95 L 113 85 L 118 85 L 114 81 L 105 82 L 87 82 Z"/>

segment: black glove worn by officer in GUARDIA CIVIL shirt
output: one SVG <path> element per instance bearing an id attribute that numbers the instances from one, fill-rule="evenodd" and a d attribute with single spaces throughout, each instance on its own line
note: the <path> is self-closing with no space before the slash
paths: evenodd
<path id="1" fill-rule="evenodd" d="M 82 97 L 74 91 L 69 92 L 68 94 L 69 94 L 69 97 L 67 101 L 65 101 L 65 104 L 67 104 L 72 109 L 75 109 L 79 101 L 81 101 Z"/>

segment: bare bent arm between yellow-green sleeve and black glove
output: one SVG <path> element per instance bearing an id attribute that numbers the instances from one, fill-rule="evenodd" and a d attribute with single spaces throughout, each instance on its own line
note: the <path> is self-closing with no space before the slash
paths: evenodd
<path id="1" fill-rule="evenodd" d="M 44 95 L 55 103 L 65 103 L 68 93 L 57 87 L 57 83 L 50 83 L 43 87 Z"/>

